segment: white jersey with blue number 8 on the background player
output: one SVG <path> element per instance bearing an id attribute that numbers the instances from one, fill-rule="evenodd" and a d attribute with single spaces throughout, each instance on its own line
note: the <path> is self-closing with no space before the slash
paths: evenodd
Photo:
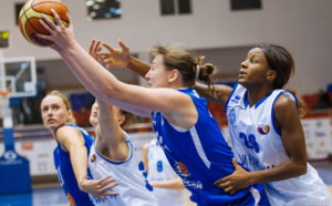
<path id="1" fill-rule="evenodd" d="M 177 178 L 157 140 L 152 140 L 147 150 L 148 181 L 169 181 Z M 159 206 L 185 206 L 184 189 L 166 189 L 154 187 Z"/>

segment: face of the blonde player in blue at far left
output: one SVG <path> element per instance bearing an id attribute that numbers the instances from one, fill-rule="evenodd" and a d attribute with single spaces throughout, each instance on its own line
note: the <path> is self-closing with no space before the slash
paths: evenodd
<path id="1" fill-rule="evenodd" d="M 44 126 L 50 130 L 59 128 L 72 117 L 72 112 L 66 110 L 63 100 L 56 95 L 43 99 L 41 113 Z"/>

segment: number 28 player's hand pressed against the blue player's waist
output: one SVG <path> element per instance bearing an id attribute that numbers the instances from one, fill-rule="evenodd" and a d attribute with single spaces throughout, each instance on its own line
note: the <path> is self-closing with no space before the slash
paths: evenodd
<path id="1" fill-rule="evenodd" d="M 229 193 L 230 195 L 234 195 L 250 185 L 250 178 L 248 177 L 249 173 L 237 163 L 235 157 L 232 158 L 232 164 L 236 171 L 231 175 L 215 182 L 217 187 L 222 188 L 225 193 Z"/>

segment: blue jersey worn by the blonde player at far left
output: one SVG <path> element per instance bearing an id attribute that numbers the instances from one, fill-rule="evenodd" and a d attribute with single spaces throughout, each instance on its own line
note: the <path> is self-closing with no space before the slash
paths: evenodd
<path id="1" fill-rule="evenodd" d="M 72 126 L 75 128 L 79 128 L 84 137 L 84 145 L 86 147 L 86 157 L 89 156 L 89 151 L 91 145 L 93 144 L 92 137 L 89 135 L 86 131 L 83 128 L 69 124 L 68 126 Z M 90 200 L 90 197 L 87 193 L 82 192 L 79 188 L 79 184 L 72 167 L 70 153 L 64 152 L 61 148 L 60 143 L 58 142 L 58 146 L 53 152 L 54 157 L 54 165 L 58 172 L 59 182 L 65 193 L 66 198 L 70 202 L 71 206 L 77 205 L 77 206 L 89 206 L 93 205 Z"/>

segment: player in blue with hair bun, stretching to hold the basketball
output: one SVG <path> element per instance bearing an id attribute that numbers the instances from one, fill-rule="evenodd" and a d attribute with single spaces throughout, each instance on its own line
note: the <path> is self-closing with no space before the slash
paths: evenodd
<path id="1" fill-rule="evenodd" d="M 215 66 L 201 64 L 177 47 L 156 45 L 146 80 L 149 87 L 125 84 L 95 61 L 75 41 L 70 19 L 65 28 L 52 11 L 56 24 L 43 16 L 41 23 L 51 35 L 52 47 L 73 73 L 97 99 L 128 112 L 153 117 L 158 142 L 172 167 L 191 192 L 197 205 L 269 205 L 262 185 L 249 185 L 230 195 L 215 182 L 235 172 L 234 154 L 205 99 L 193 89 L 195 78 L 210 83 Z M 107 44 L 103 44 L 110 48 Z"/>

